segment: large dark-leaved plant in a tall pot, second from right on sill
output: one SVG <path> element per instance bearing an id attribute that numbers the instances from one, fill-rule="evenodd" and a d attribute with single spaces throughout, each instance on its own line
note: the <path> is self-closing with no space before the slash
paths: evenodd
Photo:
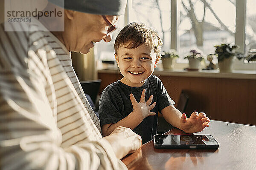
<path id="1" fill-rule="evenodd" d="M 215 47 L 215 55 L 217 55 L 218 58 L 220 72 L 232 72 L 234 56 L 239 60 L 244 58 L 243 54 L 234 51 L 234 49 L 238 48 L 236 45 L 230 46 L 230 44 L 221 44 Z"/>

